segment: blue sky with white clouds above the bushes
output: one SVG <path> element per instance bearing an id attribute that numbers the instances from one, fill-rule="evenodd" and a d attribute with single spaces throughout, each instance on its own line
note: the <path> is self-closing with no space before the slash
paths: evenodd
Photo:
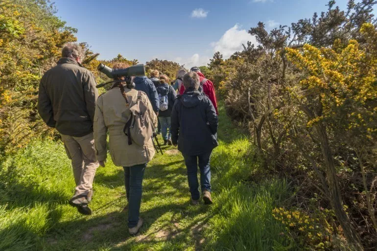
<path id="1" fill-rule="evenodd" d="M 219 50 L 227 58 L 254 41 L 259 21 L 268 29 L 309 18 L 328 0 L 55 0 L 57 16 L 78 29 L 100 59 L 122 54 L 145 63 L 154 58 L 186 67 L 205 65 Z M 347 0 L 337 0 L 345 9 Z"/>

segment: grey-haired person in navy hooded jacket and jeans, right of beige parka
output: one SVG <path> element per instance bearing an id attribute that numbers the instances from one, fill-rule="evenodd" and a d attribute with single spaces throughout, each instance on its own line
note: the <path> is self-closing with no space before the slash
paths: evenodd
<path id="1" fill-rule="evenodd" d="M 209 97 L 198 91 L 199 84 L 197 73 L 185 74 L 185 92 L 177 97 L 171 112 L 171 139 L 185 159 L 193 205 L 198 205 L 200 199 L 198 166 L 204 203 L 212 204 L 210 160 L 213 148 L 218 145 L 216 110 Z"/>

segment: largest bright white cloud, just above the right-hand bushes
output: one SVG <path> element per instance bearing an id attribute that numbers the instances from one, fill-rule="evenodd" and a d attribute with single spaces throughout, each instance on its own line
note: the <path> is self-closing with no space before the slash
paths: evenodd
<path id="1" fill-rule="evenodd" d="M 223 54 L 224 59 L 229 58 L 236 51 L 243 49 L 242 44 L 247 44 L 250 41 L 253 44 L 257 44 L 254 36 L 251 36 L 245 29 L 240 29 L 236 24 L 229 30 L 217 42 L 212 42 L 213 52 L 220 51 Z"/>

